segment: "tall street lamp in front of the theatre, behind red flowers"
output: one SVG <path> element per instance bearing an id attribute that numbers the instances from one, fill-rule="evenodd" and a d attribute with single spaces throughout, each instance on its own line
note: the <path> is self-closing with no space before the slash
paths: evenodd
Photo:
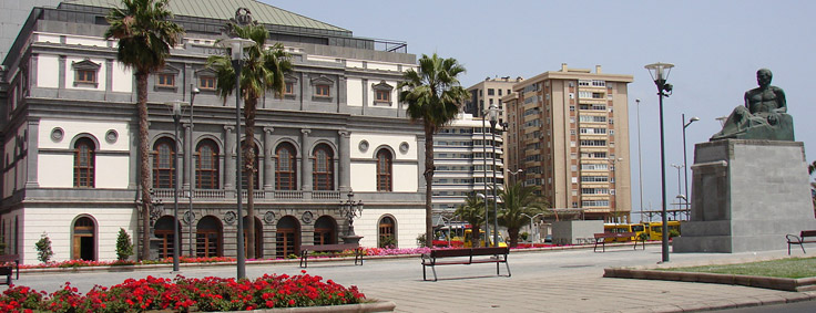
<path id="1" fill-rule="evenodd" d="M 241 70 L 244 66 L 244 48 L 255 45 L 255 41 L 243 39 L 243 38 L 230 38 L 224 39 L 222 42 L 230 46 L 232 50 L 233 69 L 235 69 L 235 189 L 237 190 L 237 208 L 238 213 L 238 233 L 237 233 L 237 259 L 238 259 L 238 272 L 237 279 L 246 278 L 246 257 L 244 254 L 244 212 L 242 210 L 242 197 L 243 191 L 242 177 L 241 177 Z M 230 147 L 232 148 L 232 147 Z"/>

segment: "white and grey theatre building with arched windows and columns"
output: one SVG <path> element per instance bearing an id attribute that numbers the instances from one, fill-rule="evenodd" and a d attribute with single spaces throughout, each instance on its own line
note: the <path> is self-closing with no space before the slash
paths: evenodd
<path id="1" fill-rule="evenodd" d="M 115 260 L 120 228 L 141 242 L 135 80 L 118 62 L 116 42 L 103 36 L 113 6 L 119 1 L 33 8 L 3 60 L 0 233 L 4 253 L 24 263 L 39 262 L 34 243 L 43 234 L 57 261 Z M 397 101 L 401 74 L 416 63 L 406 44 L 356 38 L 253 0 L 173 0 L 186 33 L 149 82 L 151 179 L 164 208 L 152 215 L 150 258 L 172 255 L 176 186 L 182 255 L 236 255 L 235 100 L 216 95 L 206 58 L 225 53 L 216 40 L 238 8 L 295 65 L 282 98 L 269 92 L 259 100 L 255 137 L 242 138 L 257 152 L 256 215 L 244 219 L 255 223 L 256 254 L 283 258 L 303 244 L 341 241 L 339 208 L 349 191 L 365 204 L 354 222 L 363 246 L 416 247 L 425 138 Z M 184 106 L 178 145 L 167 105 L 174 101 L 194 108 L 191 123 Z"/>

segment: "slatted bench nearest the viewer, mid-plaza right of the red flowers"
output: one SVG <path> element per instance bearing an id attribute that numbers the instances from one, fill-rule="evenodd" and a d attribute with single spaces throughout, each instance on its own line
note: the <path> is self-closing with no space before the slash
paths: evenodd
<path id="1" fill-rule="evenodd" d="M 509 253 L 510 248 L 507 247 L 430 250 L 430 253 L 425 253 L 421 255 L 422 281 L 428 281 L 428 278 L 426 277 L 426 268 L 428 267 L 430 267 L 431 271 L 434 271 L 434 281 L 437 281 L 437 265 L 470 265 L 479 263 L 496 263 L 496 275 L 501 275 L 499 272 L 499 263 L 504 263 L 504 265 L 507 267 L 507 277 L 509 278 L 511 275 L 510 264 L 508 264 L 507 262 L 507 254 Z M 439 260 L 448 258 L 450 258 L 451 260 Z"/>

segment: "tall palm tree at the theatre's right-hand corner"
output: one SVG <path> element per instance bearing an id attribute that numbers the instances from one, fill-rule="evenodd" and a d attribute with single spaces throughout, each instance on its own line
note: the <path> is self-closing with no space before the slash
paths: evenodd
<path id="1" fill-rule="evenodd" d="M 459 74 L 465 66 L 456 59 L 441 59 L 422 54 L 418 70 L 409 69 L 399 83 L 399 101 L 408 104 L 408 117 L 422 123 L 425 129 L 425 238 L 431 246 L 434 221 L 431 220 L 431 196 L 434 182 L 434 134 L 448 125 L 459 113 L 459 105 L 468 92 L 459 84 Z M 407 88 L 406 88 L 407 87 Z M 405 88 L 405 90 L 404 90 Z"/>

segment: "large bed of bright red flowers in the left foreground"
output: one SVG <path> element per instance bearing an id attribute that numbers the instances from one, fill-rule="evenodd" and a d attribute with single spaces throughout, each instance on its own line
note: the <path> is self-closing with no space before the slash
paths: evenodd
<path id="1" fill-rule="evenodd" d="M 0 312 L 176 312 L 249 311 L 356 304 L 365 301 L 357 286 L 345 288 L 302 271 L 302 275 L 268 275 L 255 280 L 223 278 L 129 279 L 110 288 L 94 286 L 86 294 L 65 283 L 47 294 L 12 285 L 0 295 Z"/>

